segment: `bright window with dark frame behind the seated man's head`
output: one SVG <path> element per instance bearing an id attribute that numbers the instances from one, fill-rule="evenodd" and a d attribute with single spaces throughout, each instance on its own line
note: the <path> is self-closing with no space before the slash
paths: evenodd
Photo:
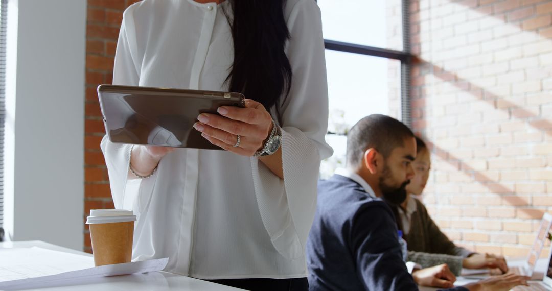
<path id="1" fill-rule="evenodd" d="M 408 1 L 318 0 L 326 45 L 329 121 L 326 179 L 345 165 L 347 132 L 360 118 L 389 115 L 410 125 Z"/>

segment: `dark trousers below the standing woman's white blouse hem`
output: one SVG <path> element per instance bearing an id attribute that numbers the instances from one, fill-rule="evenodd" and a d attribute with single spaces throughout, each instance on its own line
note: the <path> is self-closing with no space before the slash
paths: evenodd
<path id="1" fill-rule="evenodd" d="M 209 282 L 227 285 L 230 287 L 251 290 L 251 291 L 308 291 L 309 281 L 307 278 L 293 279 L 221 279 L 206 280 Z"/>

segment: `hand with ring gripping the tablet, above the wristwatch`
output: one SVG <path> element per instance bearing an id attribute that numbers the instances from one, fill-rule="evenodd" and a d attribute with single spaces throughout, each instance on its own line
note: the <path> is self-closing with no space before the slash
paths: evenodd
<path id="1" fill-rule="evenodd" d="M 221 106 L 220 115 L 202 113 L 194 128 L 210 143 L 229 152 L 251 157 L 272 131 L 272 116 L 257 101 L 246 99 L 246 107 Z M 238 136 L 240 142 L 238 143 Z M 237 146 L 236 146 L 237 144 Z"/>

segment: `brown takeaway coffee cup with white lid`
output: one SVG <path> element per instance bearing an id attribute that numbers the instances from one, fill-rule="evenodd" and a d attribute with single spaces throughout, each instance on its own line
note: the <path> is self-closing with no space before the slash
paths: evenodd
<path id="1" fill-rule="evenodd" d="M 93 209 L 86 219 L 90 229 L 94 265 L 128 263 L 136 215 L 131 210 Z"/>

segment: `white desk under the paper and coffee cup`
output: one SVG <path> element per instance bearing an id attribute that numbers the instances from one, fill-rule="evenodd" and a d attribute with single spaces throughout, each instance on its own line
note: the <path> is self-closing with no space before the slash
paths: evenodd
<path id="1" fill-rule="evenodd" d="M 0 248 L 10 247 L 43 247 L 55 251 L 70 252 L 71 254 L 83 255 L 91 257 L 91 254 L 86 252 L 67 249 L 66 247 L 56 246 L 44 241 L 18 241 L 0 243 Z M 27 289 L 39 290 L 39 289 Z M 79 285 L 55 285 L 48 288 L 40 288 L 40 290 L 49 291 L 115 291 L 115 290 L 203 290 L 203 291 L 232 291 L 241 290 L 225 285 L 206 282 L 199 279 L 194 279 L 178 274 L 168 272 L 150 272 L 145 274 L 131 274 L 124 276 L 93 278 L 82 281 Z"/>

